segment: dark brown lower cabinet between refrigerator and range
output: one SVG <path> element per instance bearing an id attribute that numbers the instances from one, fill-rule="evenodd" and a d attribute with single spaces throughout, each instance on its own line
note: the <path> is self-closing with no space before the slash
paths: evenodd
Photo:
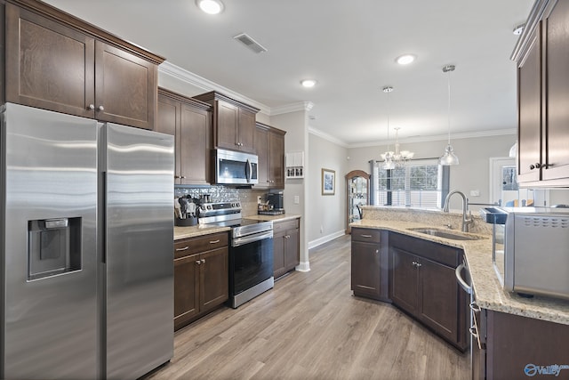
<path id="1" fill-rule="evenodd" d="M 228 233 L 174 242 L 174 329 L 228 300 Z"/>

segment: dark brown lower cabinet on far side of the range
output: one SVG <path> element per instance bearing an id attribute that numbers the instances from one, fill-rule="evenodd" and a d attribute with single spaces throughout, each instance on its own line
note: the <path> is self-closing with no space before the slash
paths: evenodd
<path id="1" fill-rule="evenodd" d="M 294 271 L 301 263 L 300 219 L 273 222 L 273 276 Z"/>

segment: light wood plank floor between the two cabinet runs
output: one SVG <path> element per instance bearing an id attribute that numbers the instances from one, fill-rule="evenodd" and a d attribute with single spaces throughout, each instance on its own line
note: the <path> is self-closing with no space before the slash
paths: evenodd
<path id="1" fill-rule="evenodd" d="M 174 336 L 170 364 L 149 379 L 468 379 L 461 354 L 387 303 L 352 296 L 349 235 L 309 252 L 238 309 Z"/>

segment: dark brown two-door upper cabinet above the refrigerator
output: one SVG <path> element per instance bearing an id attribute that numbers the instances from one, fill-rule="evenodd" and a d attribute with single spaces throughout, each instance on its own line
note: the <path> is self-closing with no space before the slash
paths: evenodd
<path id="1" fill-rule="evenodd" d="M 164 58 L 48 4 L 4 6 L 5 101 L 153 128 Z"/>

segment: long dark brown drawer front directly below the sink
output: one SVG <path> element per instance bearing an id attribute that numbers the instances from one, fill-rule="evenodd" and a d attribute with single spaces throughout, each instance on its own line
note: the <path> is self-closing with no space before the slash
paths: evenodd
<path id="1" fill-rule="evenodd" d="M 461 249 L 393 232 L 389 233 L 389 246 L 453 268 L 456 268 L 462 259 Z"/>

